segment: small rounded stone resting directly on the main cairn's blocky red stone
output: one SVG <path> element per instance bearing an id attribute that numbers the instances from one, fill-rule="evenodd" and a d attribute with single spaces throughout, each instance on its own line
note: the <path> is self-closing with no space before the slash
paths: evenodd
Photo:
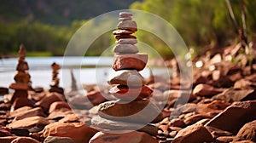
<path id="1" fill-rule="evenodd" d="M 114 46 L 113 52 L 118 54 L 137 54 L 137 46 L 132 44 L 118 44 Z"/>

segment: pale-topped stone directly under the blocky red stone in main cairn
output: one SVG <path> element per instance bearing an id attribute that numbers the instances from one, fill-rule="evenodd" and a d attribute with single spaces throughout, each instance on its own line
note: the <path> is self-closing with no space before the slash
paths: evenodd
<path id="1" fill-rule="evenodd" d="M 129 87 L 141 87 L 145 81 L 136 70 L 120 70 L 109 76 L 109 84 L 128 85 Z"/>

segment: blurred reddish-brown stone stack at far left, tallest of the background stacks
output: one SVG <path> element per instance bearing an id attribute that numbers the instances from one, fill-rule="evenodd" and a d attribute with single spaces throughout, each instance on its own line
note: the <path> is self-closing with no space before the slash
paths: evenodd
<path id="1" fill-rule="evenodd" d="M 27 62 L 25 60 L 26 58 L 26 49 L 23 44 L 20 44 L 20 50 L 19 50 L 19 63 L 16 66 L 16 75 L 15 75 L 15 83 L 12 83 L 9 88 L 15 89 L 15 93 L 12 96 L 11 103 L 14 103 L 14 101 L 17 98 L 26 98 L 28 96 L 27 90 L 32 89 L 31 87 L 31 81 L 30 81 L 30 75 L 26 72 L 29 70 L 29 67 L 27 65 Z"/>

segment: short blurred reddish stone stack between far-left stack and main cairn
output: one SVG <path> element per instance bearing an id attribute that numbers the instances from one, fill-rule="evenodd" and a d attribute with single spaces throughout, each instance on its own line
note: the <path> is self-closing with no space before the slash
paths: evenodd
<path id="1" fill-rule="evenodd" d="M 57 92 L 57 93 L 63 94 L 64 89 L 59 87 L 60 78 L 58 77 L 61 66 L 54 62 L 51 65 L 51 69 L 52 69 L 52 80 L 51 80 L 51 83 L 49 84 L 50 86 L 49 92 Z"/>

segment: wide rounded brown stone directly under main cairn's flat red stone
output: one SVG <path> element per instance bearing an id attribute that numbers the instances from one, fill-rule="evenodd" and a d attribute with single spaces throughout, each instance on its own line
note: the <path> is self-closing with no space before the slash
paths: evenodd
<path id="1" fill-rule="evenodd" d="M 124 104 L 121 100 L 107 101 L 99 105 L 102 118 L 131 123 L 157 123 L 163 119 L 160 108 L 150 100 L 134 100 Z"/>

